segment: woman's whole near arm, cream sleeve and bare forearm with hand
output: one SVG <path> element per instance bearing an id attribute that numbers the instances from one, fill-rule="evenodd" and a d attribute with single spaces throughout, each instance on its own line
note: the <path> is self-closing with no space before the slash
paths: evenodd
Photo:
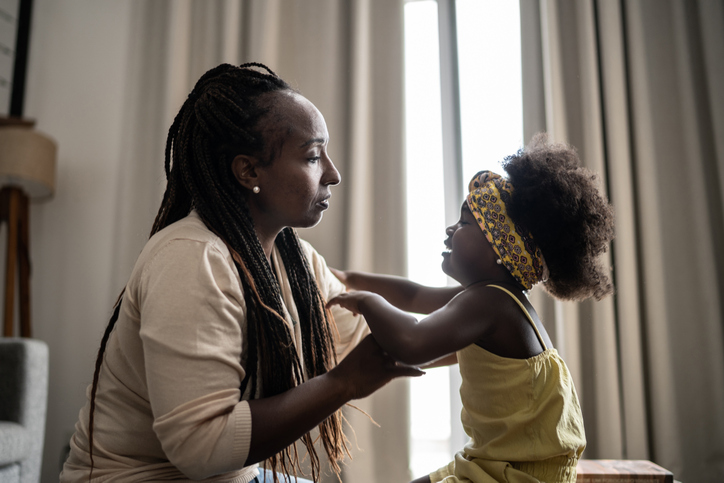
<path id="1" fill-rule="evenodd" d="M 153 431 L 169 461 L 191 479 L 273 456 L 347 401 L 394 377 L 422 374 L 397 365 L 370 337 L 323 376 L 273 397 L 239 401 L 245 375 L 239 321 L 246 314 L 226 254 L 184 237 L 151 255 L 124 303 L 137 301 L 143 314 L 140 348 Z"/>

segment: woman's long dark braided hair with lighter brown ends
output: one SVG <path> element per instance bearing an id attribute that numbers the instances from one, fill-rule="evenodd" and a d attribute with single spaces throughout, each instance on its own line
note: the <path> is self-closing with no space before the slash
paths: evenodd
<path id="1" fill-rule="evenodd" d="M 265 129 L 276 95 L 290 86 L 268 67 L 250 63 L 222 64 L 196 83 L 169 129 L 165 151 L 166 191 L 151 236 L 195 209 L 206 226 L 229 247 L 241 279 L 247 306 L 248 354 L 242 397 L 255 399 L 284 392 L 307 377 L 323 374 L 336 364 L 333 320 L 314 280 L 299 238 L 285 228 L 275 244 L 287 271 L 299 313 L 304 360 L 297 355 L 293 336 L 281 314 L 281 290 L 270 267 L 245 200 L 245 189 L 231 171 L 238 154 L 270 163 L 275 148 L 273 126 Z M 268 127 L 268 126 L 267 126 Z M 122 296 L 123 294 L 121 294 Z M 96 360 L 89 418 L 91 472 L 93 470 L 93 412 L 105 346 L 118 318 L 121 298 L 101 341 Z M 244 362 L 244 361 L 242 361 Z M 319 437 L 339 474 L 339 462 L 349 455 L 342 432 L 343 417 L 336 411 L 319 424 Z M 301 438 L 310 455 L 311 473 L 319 480 L 320 461 L 310 433 Z M 285 474 L 303 474 L 295 444 L 270 457 L 265 466 Z"/>

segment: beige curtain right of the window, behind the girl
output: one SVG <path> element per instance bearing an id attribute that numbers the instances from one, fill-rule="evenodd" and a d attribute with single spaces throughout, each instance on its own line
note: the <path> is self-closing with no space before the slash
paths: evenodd
<path id="1" fill-rule="evenodd" d="M 536 293 L 588 458 L 724 481 L 724 4 L 521 0 L 526 138 L 576 146 L 616 211 L 614 297 Z"/>

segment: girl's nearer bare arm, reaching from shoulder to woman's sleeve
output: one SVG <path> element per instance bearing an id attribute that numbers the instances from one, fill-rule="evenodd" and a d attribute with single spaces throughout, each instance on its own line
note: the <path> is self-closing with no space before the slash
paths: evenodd
<path id="1" fill-rule="evenodd" d="M 495 294 L 493 294 L 495 295 Z M 485 336 L 491 294 L 466 290 L 418 323 L 380 295 L 356 291 L 340 294 L 328 305 L 361 313 L 380 346 L 406 364 L 420 365 L 458 351 Z M 434 365 L 434 364 L 433 364 Z"/>

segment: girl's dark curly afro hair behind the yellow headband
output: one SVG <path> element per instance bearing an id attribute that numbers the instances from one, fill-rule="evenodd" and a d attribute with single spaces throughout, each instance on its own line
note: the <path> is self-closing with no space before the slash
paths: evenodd
<path id="1" fill-rule="evenodd" d="M 530 230 L 548 265 L 545 289 L 563 300 L 600 300 L 613 292 L 598 260 L 613 239 L 613 209 L 576 149 L 549 144 L 539 133 L 503 168 L 515 188 L 507 211 Z"/>

